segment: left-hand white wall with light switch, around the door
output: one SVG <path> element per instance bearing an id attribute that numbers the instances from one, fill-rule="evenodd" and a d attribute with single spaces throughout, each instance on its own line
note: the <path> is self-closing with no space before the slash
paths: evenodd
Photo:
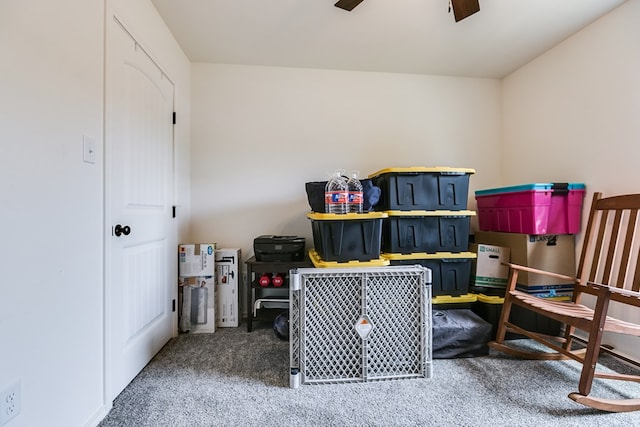
<path id="1" fill-rule="evenodd" d="M 149 1 L 114 3 L 176 82 L 186 119 L 176 129 L 178 182 L 188 206 L 190 65 Z M 22 384 L 12 427 L 92 425 L 110 404 L 103 393 L 103 34 L 103 0 L 0 3 L 0 388 Z M 82 161 L 83 135 L 95 140 L 95 164 Z"/>

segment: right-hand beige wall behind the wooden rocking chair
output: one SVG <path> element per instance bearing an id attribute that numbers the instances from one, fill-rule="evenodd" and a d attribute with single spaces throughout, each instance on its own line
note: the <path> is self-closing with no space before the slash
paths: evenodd
<path id="1" fill-rule="evenodd" d="M 626 2 L 504 80 L 505 185 L 584 182 L 586 207 L 640 191 L 638 22 Z M 609 342 L 640 360 L 640 341 Z"/>

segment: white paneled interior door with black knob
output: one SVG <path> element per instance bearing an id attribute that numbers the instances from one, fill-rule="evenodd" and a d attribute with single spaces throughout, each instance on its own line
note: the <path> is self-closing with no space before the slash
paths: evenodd
<path id="1" fill-rule="evenodd" d="M 174 88 L 115 17 L 105 79 L 105 381 L 113 399 L 173 335 Z"/>

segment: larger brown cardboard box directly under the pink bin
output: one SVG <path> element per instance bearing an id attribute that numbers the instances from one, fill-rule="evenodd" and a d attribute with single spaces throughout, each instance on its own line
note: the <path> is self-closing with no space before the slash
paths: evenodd
<path id="1" fill-rule="evenodd" d="M 575 238 L 572 234 L 532 235 L 497 231 L 478 231 L 476 243 L 508 247 L 511 262 L 567 276 L 576 274 Z M 559 285 L 573 283 L 541 274 L 520 272 L 521 285 Z"/>

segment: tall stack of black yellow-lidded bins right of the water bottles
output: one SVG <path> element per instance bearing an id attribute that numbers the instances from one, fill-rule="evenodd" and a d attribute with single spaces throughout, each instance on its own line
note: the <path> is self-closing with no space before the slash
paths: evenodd
<path id="1" fill-rule="evenodd" d="M 467 210 L 473 169 L 409 167 L 369 176 L 381 189 L 376 211 L 382 224 L 382 252 L 391 265 L 420 264 L 432 271 L 433 303 L 467 307 L 471 262 Z M 439 299 L 442 299 L 440 301 Z"/>

